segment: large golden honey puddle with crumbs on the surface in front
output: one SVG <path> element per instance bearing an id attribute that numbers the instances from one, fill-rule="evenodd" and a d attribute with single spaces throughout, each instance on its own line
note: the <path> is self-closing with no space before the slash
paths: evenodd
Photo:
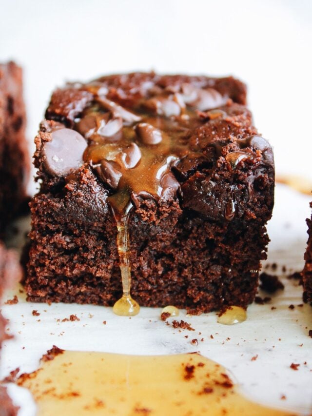
<path id="1" fill-rule="evenodd" d="M 17 380 L 38 415 L 291 415 L 248 400 L 224 367 L 199 354 L 58 352 Z"/>

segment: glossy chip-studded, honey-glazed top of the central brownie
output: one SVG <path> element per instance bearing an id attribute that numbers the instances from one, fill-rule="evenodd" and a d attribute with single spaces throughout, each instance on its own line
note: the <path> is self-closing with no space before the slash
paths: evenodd
<path id="1" fill-rule="evenodd" d="M 246 87 L 232 77 L 133 73 L 67 84 L 52 95 L 35 164 L 70 180 L 91 169 L 120 216 L 138 197 L 176 195 L 220 156 L 233 168 L 271 152 L 245 104 Z"/>

